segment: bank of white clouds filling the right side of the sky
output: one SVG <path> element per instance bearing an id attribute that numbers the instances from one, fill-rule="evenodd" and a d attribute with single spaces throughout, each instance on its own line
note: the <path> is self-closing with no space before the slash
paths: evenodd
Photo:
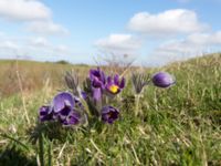
<path id="1" fill-rule="evenodd" d="M 208 23 L 201 22 L 192 10 L 171 9 L 159 13 L 138 12 L 128 21 L 133 34 L 109 35 L 98 40 L 96 45 L 106 52 L 139 51 L 146 43 L 155 43 L 146 61 L 150 64 L 166 64 L 185 60 L 203 52 L 221 50 L 221 31 L 212 32 Z M 135 40 L 136 39 L 136 40 Z M 143 40 L 140 40 L 143 39 Z M 143 41 L 143 42 L 140 42 Z M 144 60 L 143 60 L 144 62 Z"/>

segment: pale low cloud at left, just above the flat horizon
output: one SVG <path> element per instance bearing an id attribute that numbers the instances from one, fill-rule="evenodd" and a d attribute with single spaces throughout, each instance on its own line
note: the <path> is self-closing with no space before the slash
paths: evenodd
<path id="1" fill-rule="evenodd" d="M 10 38 L 0 39 L 0 58 L 34 58 L 35 60 L 65 59 L 71 51 L 65 44 L 54 44 L 43 37 L 35 38 Z M 61 56 L 62 55 L 62 56 Z"/>

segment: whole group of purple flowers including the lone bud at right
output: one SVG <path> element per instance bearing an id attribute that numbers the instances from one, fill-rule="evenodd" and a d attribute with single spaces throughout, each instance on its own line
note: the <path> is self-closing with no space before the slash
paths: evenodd
<path id="1" fill-rule="evenodd" d="M 119 118 L 120 111 L 114 105 L 119 105 L 119 97 L 116 96 L 125 87 L 124 76 L 106 75 L 97 68 L 90 70 L 83 84 L 80 84 L 77 74 L 73 72 L 66 73 L 65 82 L 71 91 L 60 92 L 51 104 L 40 107 L 41 122 L 59 122 L 63 126 L 73 126 L 86 123 L 92 116 L 107 124 L 113 124 Z M 140 113 L 139 101 L 143 96 L 140 94 L 150 83 L 158 87 L 169 87 L 175 84 L 175 79 L 166 72 L 156 73 L 151 77 L 145 73 L 133 73 L 136 115 Z"/>

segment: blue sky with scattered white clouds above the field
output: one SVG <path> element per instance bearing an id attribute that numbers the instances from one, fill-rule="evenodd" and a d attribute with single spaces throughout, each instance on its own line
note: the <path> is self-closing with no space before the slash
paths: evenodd
<path id="1" fill-rule="evenodd" d="M 158 66 L 221 51 L 221 0 L 0 0 L 0 59 Z"/>

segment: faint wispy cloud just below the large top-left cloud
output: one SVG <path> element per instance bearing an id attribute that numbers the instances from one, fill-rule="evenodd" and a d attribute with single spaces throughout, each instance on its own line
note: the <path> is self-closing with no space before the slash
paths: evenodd
<path id="1" fill-rule="evenodd" d="M 69 30 L 52 21 L 34 21 L 28 24 L 27 30 L 42 35 L 66 35 Z"/>

